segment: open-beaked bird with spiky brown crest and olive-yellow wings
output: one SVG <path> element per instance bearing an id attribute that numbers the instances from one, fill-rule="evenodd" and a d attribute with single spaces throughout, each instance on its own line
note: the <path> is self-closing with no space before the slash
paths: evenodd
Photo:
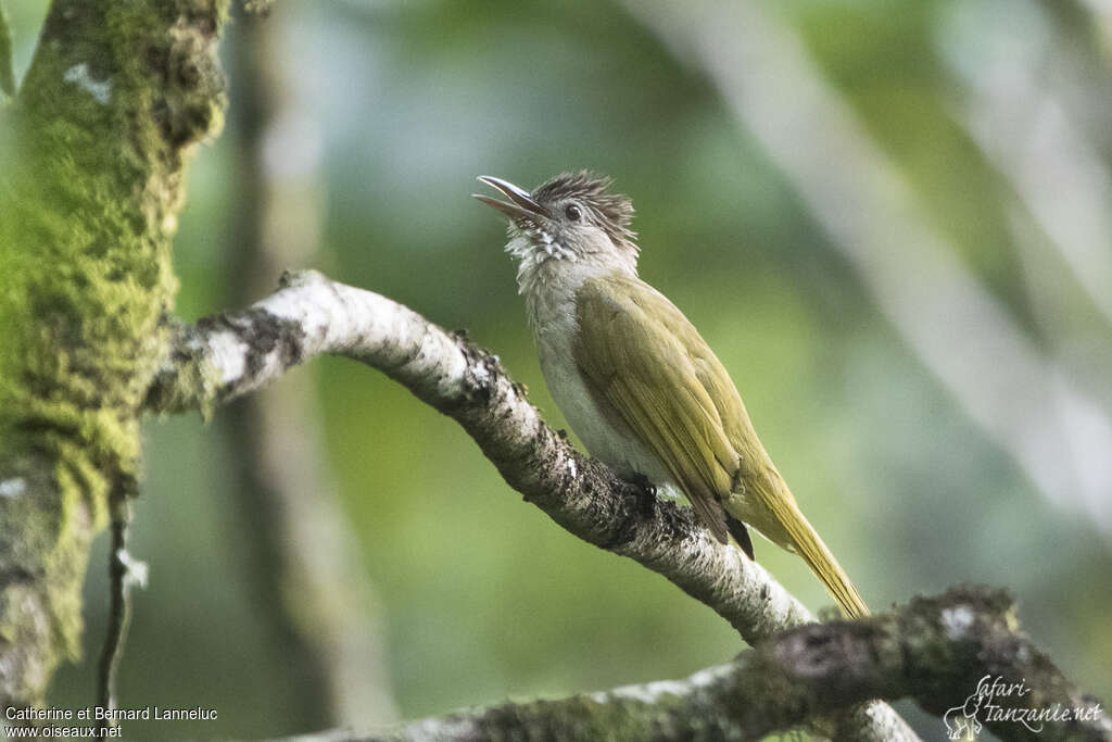
<path id="1" fill-rule="evenodd" d="M 682 493 L 723 544 L 754 558 L 746 526 L 798 554 L 850 617 L 868 609 L 804 517 L 722 362 L 694 325 L 641 279 L 631 199 L 589 171 L 532 191 L 478 180 L 508 217 L 540 370 L 568 425 L 619 476 Z"/>

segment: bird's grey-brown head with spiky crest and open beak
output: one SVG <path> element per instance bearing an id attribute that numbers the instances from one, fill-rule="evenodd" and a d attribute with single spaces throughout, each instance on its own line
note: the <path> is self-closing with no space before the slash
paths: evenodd
<path id="1" fill-rule="evenodd" d="M 533 191 L 490 176 L 479 180 L 508 200 L 475 198 L 509 217 L 506 249 L 523 269 L 552 261 L 613 263 L 636 269 L 637 244 L 629 229 L 633 204 L 609 191 L 609 178 L 586 171 L 564 172 Z"/>

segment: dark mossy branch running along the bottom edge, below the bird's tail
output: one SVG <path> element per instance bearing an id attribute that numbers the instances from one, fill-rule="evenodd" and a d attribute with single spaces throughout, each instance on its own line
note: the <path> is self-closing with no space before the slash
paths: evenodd
<path id="1" fill-rule="evenodd" d="M 992 681 L 1002 690 L 992 691 Z M 1022 686 L 1005 694 L 1009 684 Z M 966 706 L 982 687 L 981 702 Z M 1006 594 L 957 588 L 890 614 L 788 630 L 682 681 L 468 710 L 367 735 L 299 739 L 757 740 L 872 698 L 914 699 L 943 718 L 940 733 L 975 721 L 1005 741 L 1112 734 L 1101 703 L 1019 632 Z M 1010 713 L 990 713 L 990 704 Z M 1080 713 L 1069 721 L 1037 720 L 1054 709 Z"/>

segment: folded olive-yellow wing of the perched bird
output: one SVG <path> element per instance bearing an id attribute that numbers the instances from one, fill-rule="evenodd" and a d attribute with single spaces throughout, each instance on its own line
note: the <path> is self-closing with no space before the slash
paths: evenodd
<path id="1" fill-rule="evenodd" d="M 722 498 L 738 454 L 707 382 L 716 394 L 737 392 L 722 364 L 679 309 L 637 278 L 586 281 L 576 295 L 576 319 L 573 352 L 587 383 L 661 458 L 725 543 Z"/>

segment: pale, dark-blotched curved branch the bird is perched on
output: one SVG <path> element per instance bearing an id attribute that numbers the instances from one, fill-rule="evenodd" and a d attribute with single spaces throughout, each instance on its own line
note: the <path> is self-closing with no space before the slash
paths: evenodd
<path id="1" fill-rule="evenodd" d="M 814 620 L 763 567 L 696 525 L 687 508 L 577 453 L 545 425 L 496 356 L 395 301 L 315 271 L 286 276 L 281 290 L 247 309 L 179 328 L 147 406 L 210 410 L 324 353 L 405 385 L 458 422 L 526 501 L 579 538 L 664 575 L 748 643 Z M 883 705 L 846 723 L 858 739 L 915 739 Z"/>

